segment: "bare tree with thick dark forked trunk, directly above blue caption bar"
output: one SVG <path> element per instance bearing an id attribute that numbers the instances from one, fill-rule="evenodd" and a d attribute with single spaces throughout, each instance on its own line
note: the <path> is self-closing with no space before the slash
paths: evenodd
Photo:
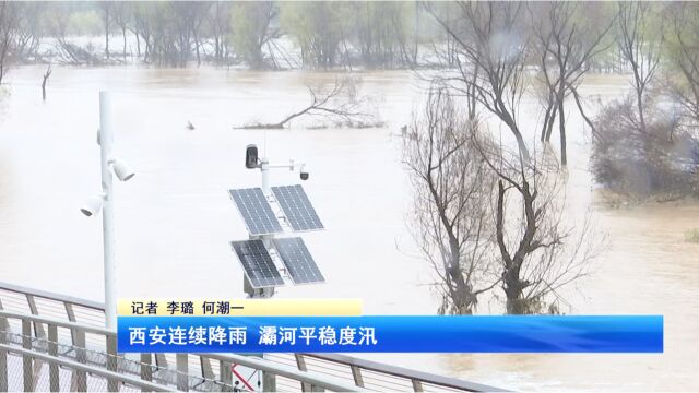
<path id="1" fill-rule="evenodd" d="M 525 162 L 502 146 L 478 146 L 498 176 L 495 237 L 507 312 L 557 313 L 559 289 L 584 276 L 602 250 L 591 213 L 581 222 L 570 217 L 561 172 L 543 155 Z"/>

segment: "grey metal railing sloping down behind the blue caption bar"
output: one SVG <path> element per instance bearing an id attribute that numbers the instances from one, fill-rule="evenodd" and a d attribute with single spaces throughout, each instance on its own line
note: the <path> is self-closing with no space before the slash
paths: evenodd
<path id="1" fill-rule="evenodd" d="M 234 383 L 232 376 L 232 366 L 240 365 L 273 377 L 265 379 L 265 390 L 501 391 L 339 354 L 269 354 L 264 358 L 232 354 L 141 354 L 139 359 L 127 359 L 116 353 L 116 334 L 105 330 L 104 324 L 104 305 L 99 302 L 0 282 L 0 344 L 12 344 L 13 337 L 15 344 L 28 341 L 34 347 L 22 345 L 24 350 L 44 350 L 46 356 L 58 354 L 70 357 L 67 361 L 106 368 L 168 389 L 240 391 L 241 385 Z M 22 334 L 17 337 L 13 330 Z M 54 346 L 62 350 L 52 354 Z M 72 369 L 78 381 L 82 381 L 85 370 Z M 118 386 L 112 381 L 107 388 L 117 390 Z"/>

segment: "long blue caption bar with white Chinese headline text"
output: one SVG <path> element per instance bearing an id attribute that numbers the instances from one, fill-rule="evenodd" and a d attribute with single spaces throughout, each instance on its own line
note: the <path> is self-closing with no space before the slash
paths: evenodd
<path id="1" fill-rule="evenodd" d="M 662 315 L 119 317 L 121 353 L 662 353 Z"/>

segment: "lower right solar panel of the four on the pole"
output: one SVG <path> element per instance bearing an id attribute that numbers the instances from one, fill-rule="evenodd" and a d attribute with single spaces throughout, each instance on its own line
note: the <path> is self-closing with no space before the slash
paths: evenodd
<path id="1" fill-rule="evenodd" d="M 282 258 L 282 262 L 288 270 L 294 284 L 324 283 L 325 278 L 320 273 L 313 257 L 310 255 L 304 239 L 283 238 L 274 239 L 274 247 Z"/>

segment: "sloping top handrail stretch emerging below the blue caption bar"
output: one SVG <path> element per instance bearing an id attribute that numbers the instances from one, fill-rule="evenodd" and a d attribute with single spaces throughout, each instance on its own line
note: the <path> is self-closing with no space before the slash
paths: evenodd
<path id="1" fill-rule="evenodd" d="M 460 380 L 458 378 L 443 377 L 424 371 L 412 370 L 400 366 L 391 366 L 367 359 L 356 358 L 341 354 L 303 354 L 304 356 L 328 360 L 350 367 L 359 367 L 368 371 L 376 371 L 399 378 L 410 378 L 429 384 L 437 384 L 445 388 L 464 390 L 466 392 L 508 392 L 507 390 L 494 388 L 475 382 Z"/>

